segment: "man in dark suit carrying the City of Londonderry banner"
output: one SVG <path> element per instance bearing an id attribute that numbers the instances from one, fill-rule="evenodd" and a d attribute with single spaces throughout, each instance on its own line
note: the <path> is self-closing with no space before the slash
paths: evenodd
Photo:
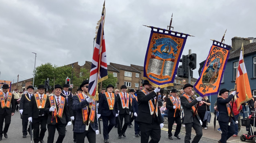
<path id="1" fill-rule="evenodd" d="M 184 111 L 183 124 L 185 124 L 186 135 L 184 138 L 184 143 L 190 143 L 191 140 L 191 130 L 192 127 L 196 131 L 196 136 L 194 137 L 192 143 L 198 143 L 203 136 L 202 132 L 202 121 L 200 120 L 198 114 L 194 117 L 194 112 L 196 111 L 196 103 L 202 100 L 202 97 L 197 97 L 193 99 L 190 95 L 192 93 L 193 85 L 187 83 L 184 85 L 184 94 L 180 97 L 181 105 Z"/>

